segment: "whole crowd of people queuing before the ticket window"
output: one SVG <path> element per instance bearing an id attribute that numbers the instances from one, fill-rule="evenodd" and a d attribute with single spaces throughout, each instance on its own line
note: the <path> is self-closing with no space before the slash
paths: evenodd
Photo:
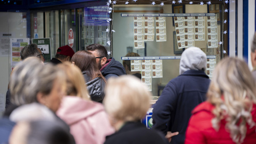
<path id="1" fill-rule="evenodd" d="M 35 44 L 25 48 L 10 76 L 0 143 L 256 142 L 255 71 L 243 60 L 221 60 L 211 81 L 206 54 L 189 47 L 181 55 L 180 75 L 151 106 L 139 72 L 132 73 L 129 62 L 108 59 L 100 44 L 76 53 L 62 46 L 46 64 Z M 150 107 L 152 130 L 141 124 Z"/>

